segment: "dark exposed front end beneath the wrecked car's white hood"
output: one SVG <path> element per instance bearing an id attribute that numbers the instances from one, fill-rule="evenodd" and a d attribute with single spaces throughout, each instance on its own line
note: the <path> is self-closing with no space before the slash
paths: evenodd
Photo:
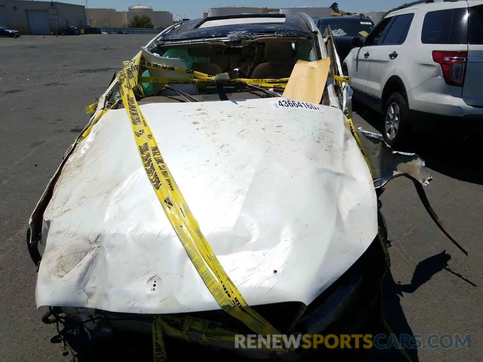
<path id="1" fill-rule="evenodd" d="M 359 333 L 365 321 L 371 317 L 381 291 L 381 282 L 387 267 L 381 242 L 376 237 L 367 251 L 327 290 L 322 292 L 309 306 L 301 302 L 286 302 L 261 306 L 252 306 L 275 328 L 284 334 L 353 334 Z M 49 315 L 50 314 L 50 315 Z M 210 348 L 203 348 L 203 332 L 200 328 L 185 328 L 186 317 L 193 320 L 208 320 L 212 330 L 229 331 L 231 334 L 254 334 L 239 320 L 231 317 L 223 310 L 185 313 L 183 315 L 167 315 L 168 324 L 184 334 L 163 330 L 166 334 L 166 348 L 174 355 L 194 353 L 202 348 L 203 354 L 212 353 Z M 129 351 L 136 351 L 136 359 L 141 354 L 152 359 L 152 324 L 155 316 L 145 314 L 114 313 L 102 310 L 54 307 L 43 317 L 45 323 L 56 323 L 62 330 L 59 334 L 77 353 L 94 353 L 98 355 L 106 351 L 106 346 L 113 343 L 114 348 L 124 357 Z M 61 337 L 59 337 L 61 338 Z M 187 348 L 185 344 L 191 343 Z M 85 343 L 88 342 L 88 343 Z M 198 345 L 195 347 L 195 345 Z M 282 357 L 285 352 L 267 349 L 235 349 L 234 342 L 229 340 L 209 339 L 214 351 L 236 352 L 239 355 L 255 359 L 271 359 Z M 96 347 L 98 346 L 98 347 Z M 178 346 L 178 347 L 175 347 Z M 184 346 L 184 347 L 183 347 Z M 82 351 L 76 350 L 82 348 Z M 100 348 L 100 350 L 99 350 Z M 143 350 L 141 350 L 143 349 Z M 189 352 L 188 352 L 189 349 Z M 88 352 L 86 352 L 86 350 Z M 230 352 L 231 351 L 231 352 Z M 224 353 L 225 353 L 224 352 Z M 294 351 L 296 355 L 307 350 Z M 111 351 L 110 353 L 114 353 Z M 116 352 L 117 353 L 117 352 Z M 289 353 L 290 354 L 290 353 Z M 218 357 L 217 357 L 218 358 Z M 148 359 L 150 361 L 150 359 Z M 146 361 L 148 361 L 146 360 Z"/>

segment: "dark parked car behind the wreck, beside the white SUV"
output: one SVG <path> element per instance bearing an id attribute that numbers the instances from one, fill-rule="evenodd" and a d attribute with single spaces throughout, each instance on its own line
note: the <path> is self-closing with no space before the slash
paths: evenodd
<path id="1" fill-rule="evenodd" d="M 313 21 L 322 34 L 327 26 L 330 26 L 341 62 L 353 48 L 352 38 L 358 37 L 364 40 L 375 27 L 372 20 L 363 16 L 317 17 L 313 18 Z"/>

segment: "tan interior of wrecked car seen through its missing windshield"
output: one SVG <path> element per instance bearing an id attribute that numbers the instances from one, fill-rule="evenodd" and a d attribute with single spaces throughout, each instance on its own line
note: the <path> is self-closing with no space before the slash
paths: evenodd
<path id="1" fill-rule="evenodd" d="M 215 76 L 216 74 L 238 70 L 237 78 L 244 79 L 283 79 L 290 74 L 299 59 L 312 61 L 315 59 L 313 42 L 304 38 L 268 39 L 245 42 L 199 42 L 183 45 L 159 45 L 151 54 L 144 54 L 147 61 L 176 67 L 178 69 L 194 70 Z M 149 58 L 147 58 L 147 56 Z M 158 77 L 164 79 L 190 80 L 189 74 L 179 74 L 169 70 L 141 70 L 143 77 Z M 186 82 L 188 83 L 188 82 Z M 146 96 L 175 96 L 184 99 L 175 90 L 183 91 L 194 97 L 216 95 L 214 84 L 164 84 L 142 83 Z M 245 84 L 227 84 L 227 93 L 247 89 Z M 250 92 L 254 89 L 250 89 Z M 259 92 L 256 92 L 259 93 Z M 263 92 L 262 92 L 263 93 Z M 256 97 L 260 97 L 259 95 Z M 211 98 L 211 97 L 208 97 Z M 214 97 L 219 100 L 219 97 Z M 238 95 L 240 99 L 240 95 Z M 204 99 L 208 100 L 208 99 Z M 150 101 L 153 101 L 150 99 Z M 161 100 L 158 100 L 161 101 Z M 165 101 L 170 101 L 166 99 Z"/>

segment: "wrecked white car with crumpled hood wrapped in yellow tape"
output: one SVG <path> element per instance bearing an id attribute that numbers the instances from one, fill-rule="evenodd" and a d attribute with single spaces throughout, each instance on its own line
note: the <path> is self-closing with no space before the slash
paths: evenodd
<path id="1" fill-rule="evenodd" d="M 171 338 L 289 360 L 306 351 L 234 337 L 355 333 L 377 314 L 378 195 L 431 178 L 355 131 L 325 42 L 305 14 L 208 17 L 124 63 L 30 220 L 36 303 L 63 345 L 127 333 L 156 361 L 183 352 Z"/>

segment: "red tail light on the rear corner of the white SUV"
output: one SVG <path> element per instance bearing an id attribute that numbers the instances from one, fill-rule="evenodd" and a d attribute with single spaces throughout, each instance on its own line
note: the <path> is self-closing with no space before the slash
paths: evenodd
<path id="1" fill-rule="evenodd" d="M 433 50 L 433 60 L 441 65 L 444 80 L 449 85 L 463 85 L 467 56 L 468 52 Z"/>

